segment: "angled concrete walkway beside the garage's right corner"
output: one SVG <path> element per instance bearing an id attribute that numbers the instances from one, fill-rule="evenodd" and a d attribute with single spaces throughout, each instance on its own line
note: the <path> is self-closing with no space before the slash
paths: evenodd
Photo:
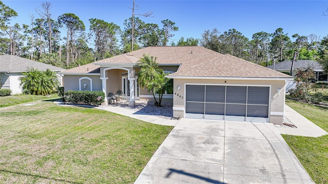
<path id="1" fill-rule="evenodd" d="M 281 134 L 310 137 L 319 137 L 328 134 L 322 128 L 312 123 L 287 105 L 285 105 L 285 118 L 291 121 L 297 128 L 277 127 Z"/>

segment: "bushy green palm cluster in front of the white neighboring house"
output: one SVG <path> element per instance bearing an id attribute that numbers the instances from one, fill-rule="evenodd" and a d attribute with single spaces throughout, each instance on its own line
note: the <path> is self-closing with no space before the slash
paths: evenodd
<path id="1" fill-rule="evenodd" d="M 49 68 L 45 72 L 29 68 L 27 72 L 23 72 L 23 75 L 20 85 L 23 85 L 27 94 L 49 95 L 54 93 L 59 86 L 59 76 Z"/>

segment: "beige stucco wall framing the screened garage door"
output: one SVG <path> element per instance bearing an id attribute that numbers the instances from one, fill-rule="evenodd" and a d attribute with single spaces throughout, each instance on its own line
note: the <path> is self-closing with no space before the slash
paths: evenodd
<path id="1" fill-rule="evenodd" d="M 204 79 L 174 79 L 173 86 L 173 116 L 185 117 L 185 84 L 217 84 L 217 85 L 259 85 L 270 86 L 270 109 L 269 118 L 270 122 L 274 124 L 282 124 L 283 111 L 285 102 L 285 81 L 269 81 L 269 80 L 204 80 Z M 180 86 L 180 91 L 177 91 L 177 87 Z M 277 90 L 280 93 L 278 94 Z"/>

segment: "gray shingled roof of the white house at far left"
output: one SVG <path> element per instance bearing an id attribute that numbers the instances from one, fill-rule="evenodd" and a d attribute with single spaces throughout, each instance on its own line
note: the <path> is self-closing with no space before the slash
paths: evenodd
<path id="1" fill-rule="evenodd" d="M 37 68 L 39 71 L 46 71 L 48 68 L 51 71 L 64 71 L 64 68 L 52 66 L 38 61 L 14 56 L 14 55 L 0 55 L 0 72 L 25 72 L 28 68 Z"/>

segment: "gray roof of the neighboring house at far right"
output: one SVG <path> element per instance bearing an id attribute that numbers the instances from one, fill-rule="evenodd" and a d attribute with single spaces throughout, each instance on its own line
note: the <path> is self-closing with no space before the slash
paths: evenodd
<path id="1" fill-rule="evenodd" d="M 314 70 L 323 70 L 323 67 L 314 60 L 296 60 L 294 62 L 294 67 L 293 70 L 296 70 L 297 68 L 300 67 L 308 67 L 308 66 L 313 66 Z M 284 71 L 290 71 L 292 67 L 292 61 L 282 61 L 280 63 L 275 64 L 275 70 L 284 70 Z M 269 68 L 273 69 L 273 64 L 269 66 Z"/>

